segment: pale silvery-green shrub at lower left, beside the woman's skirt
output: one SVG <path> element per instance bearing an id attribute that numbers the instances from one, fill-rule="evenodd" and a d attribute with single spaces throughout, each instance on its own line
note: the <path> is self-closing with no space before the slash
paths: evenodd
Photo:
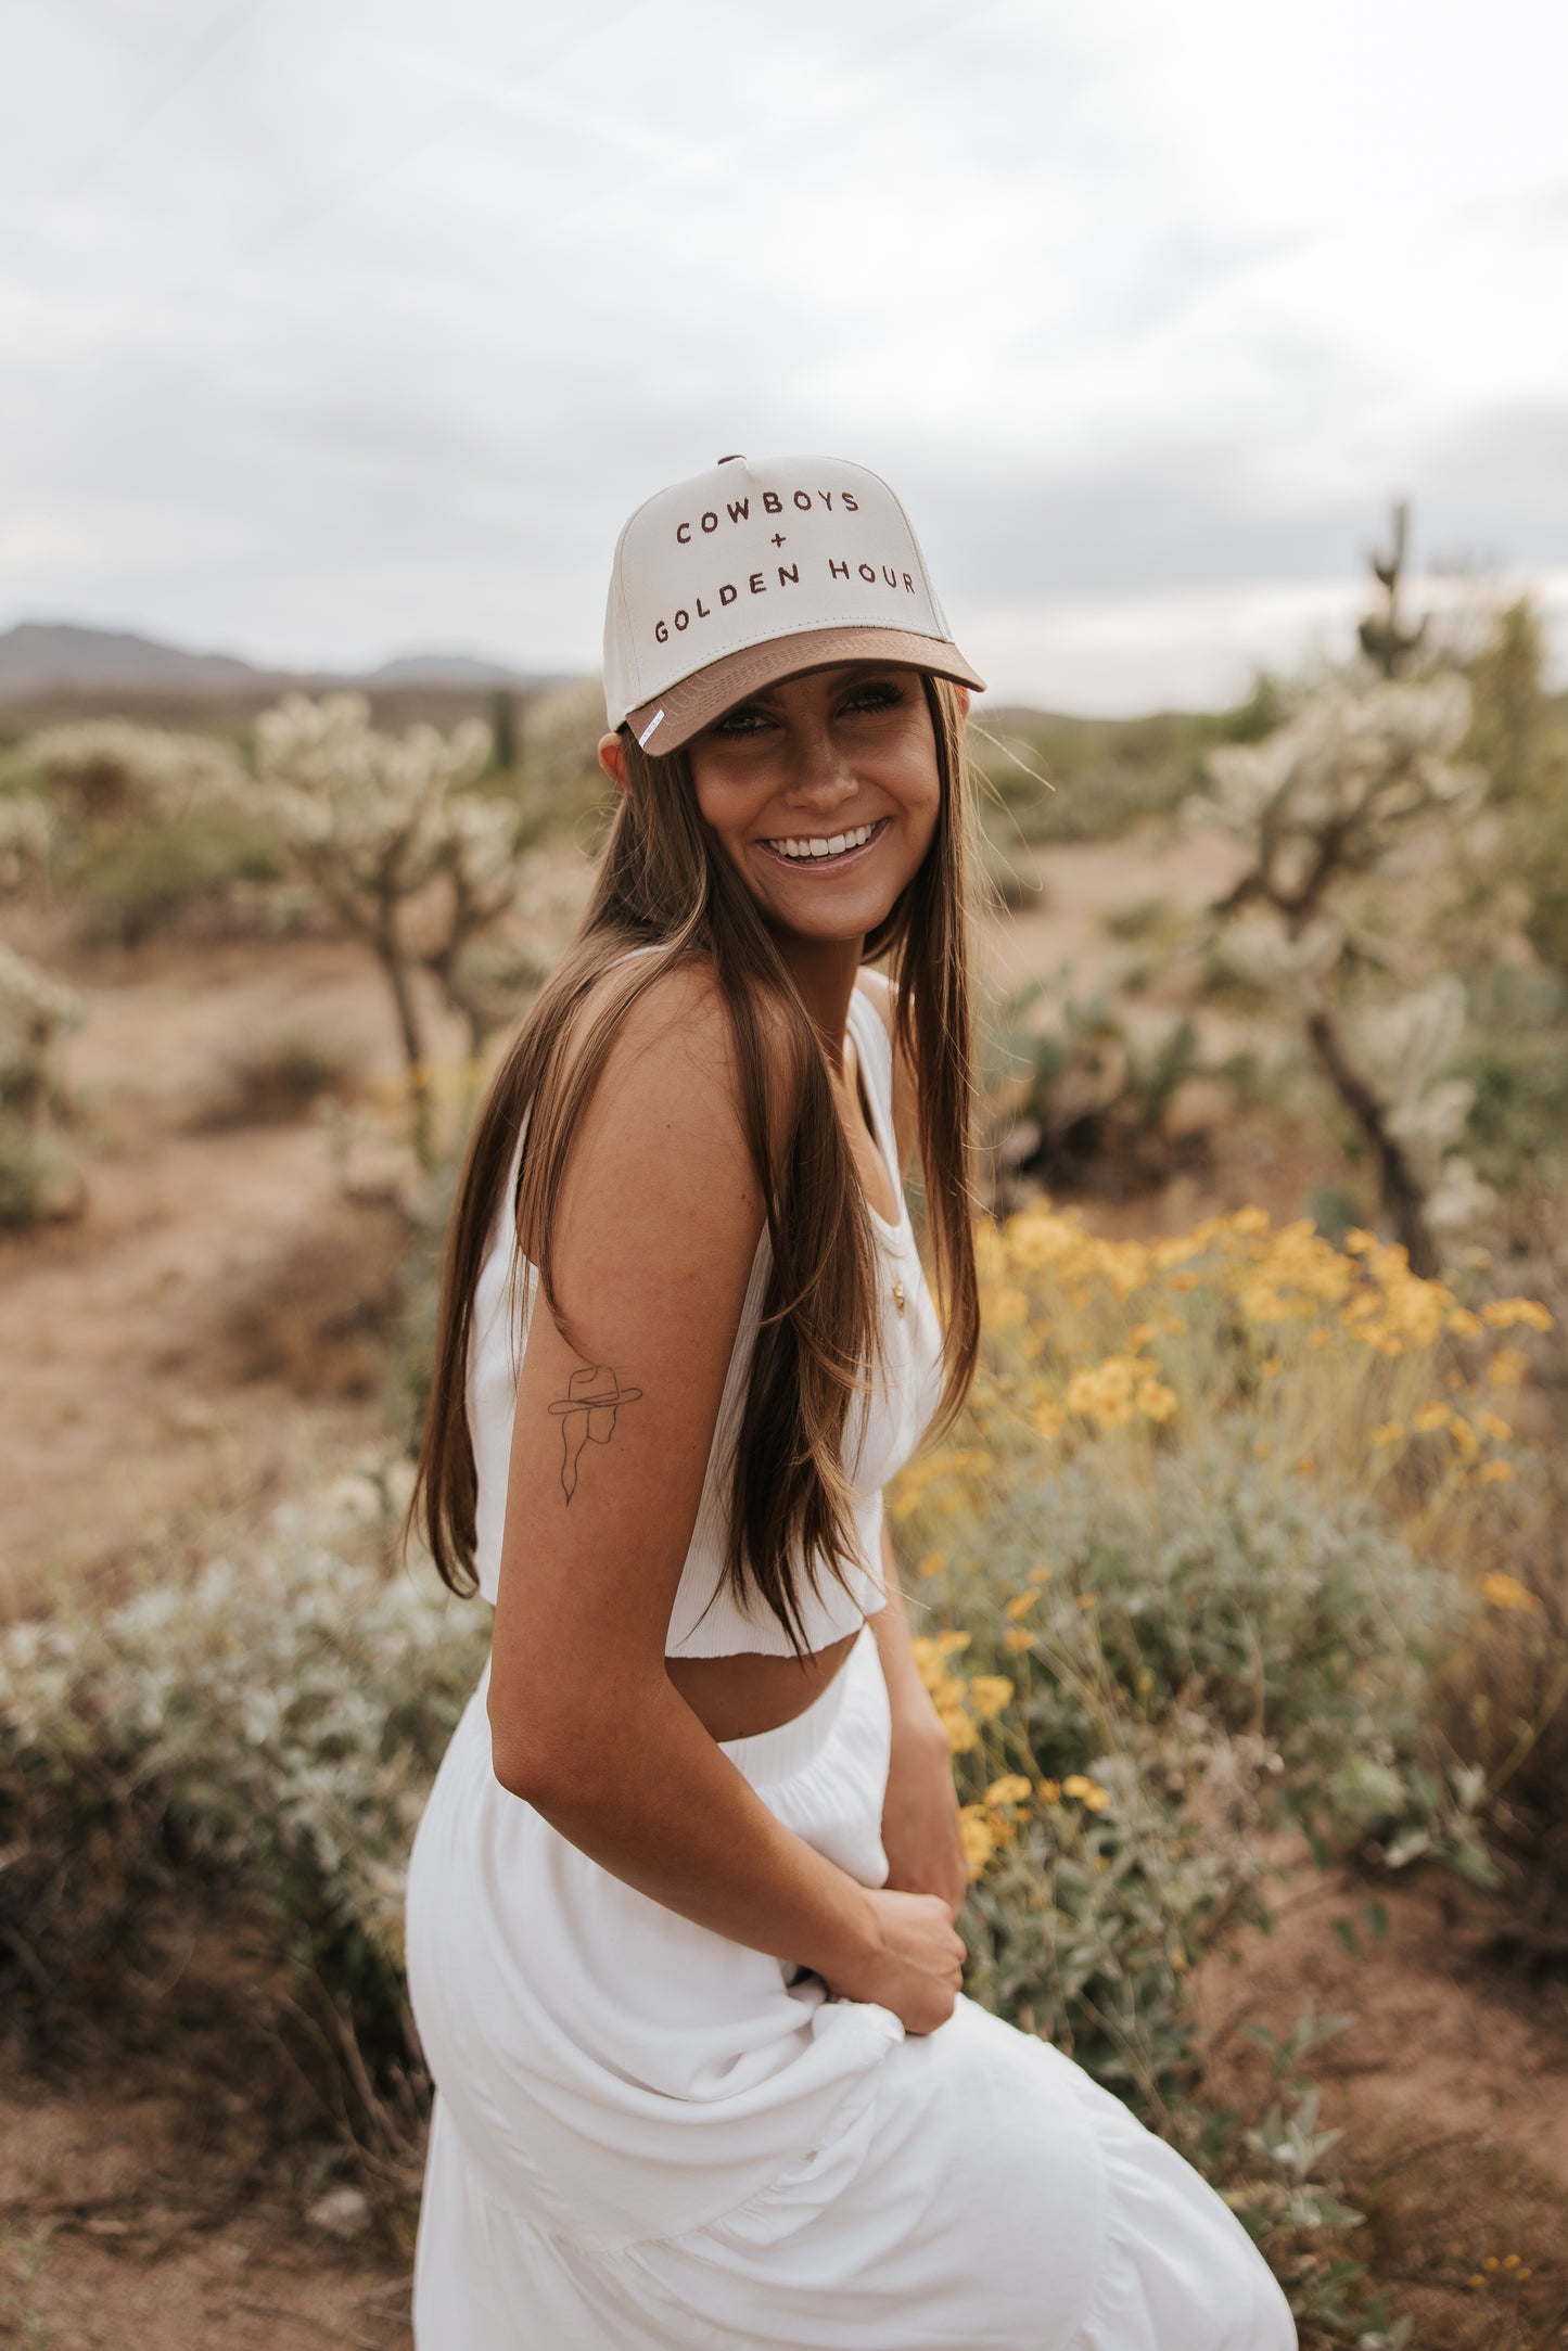
<path id="1" fill-rule="evenodd" d="M 259 1559 L 0 1639 L 0 1996 L 38 2043 L 167 2031 L 146 1987 L 214 1900 L 270 1942 L 280 2010 L 315 1987 L 371 2069 L 414 2064 L 404 1867 L 489 1610 L 369 1563 L 390 1505 L 353 1474 Z"/>

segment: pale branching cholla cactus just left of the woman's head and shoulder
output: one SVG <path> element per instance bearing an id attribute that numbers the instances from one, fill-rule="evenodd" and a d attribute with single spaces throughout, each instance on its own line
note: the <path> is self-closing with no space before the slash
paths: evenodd
<path id="1" fill-rule="evenodd" d="M 517 816 L 463 792 L 489 759 L 489 726 L 451 736 L 369 724 L 362 694 L 289 694 L 256 722 L 256 785 L 284 849 L 386 971 L 409 1065 L 421 1157 L 430 1140 L 428 1051 L 414 969 L 463 1013 L 477 1051 L 489 1006 L 463 950 L 517 896 Z"/>

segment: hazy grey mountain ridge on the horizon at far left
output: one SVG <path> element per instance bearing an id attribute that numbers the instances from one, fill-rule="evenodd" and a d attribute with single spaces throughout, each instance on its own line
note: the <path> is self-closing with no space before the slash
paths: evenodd
<path id="1" fill-rule="evenodd" d="M 468 654 L 404 654 L 383 661 L 364 677 L 324 670 L 299 675 L 263 670 L 237 654 L 188 654 L 179 644 L 160 644 L 120 628 L 78 628 L 73 621 L 21 621 L 0 632 L 0 701 L 24 701 L 38 694 L 244 694 L 310 686 L 447 686 L 480 694 L 491 686 L 538 686 L 543 677 L 508 670 L 498 661 L 475 661 Z"/>

